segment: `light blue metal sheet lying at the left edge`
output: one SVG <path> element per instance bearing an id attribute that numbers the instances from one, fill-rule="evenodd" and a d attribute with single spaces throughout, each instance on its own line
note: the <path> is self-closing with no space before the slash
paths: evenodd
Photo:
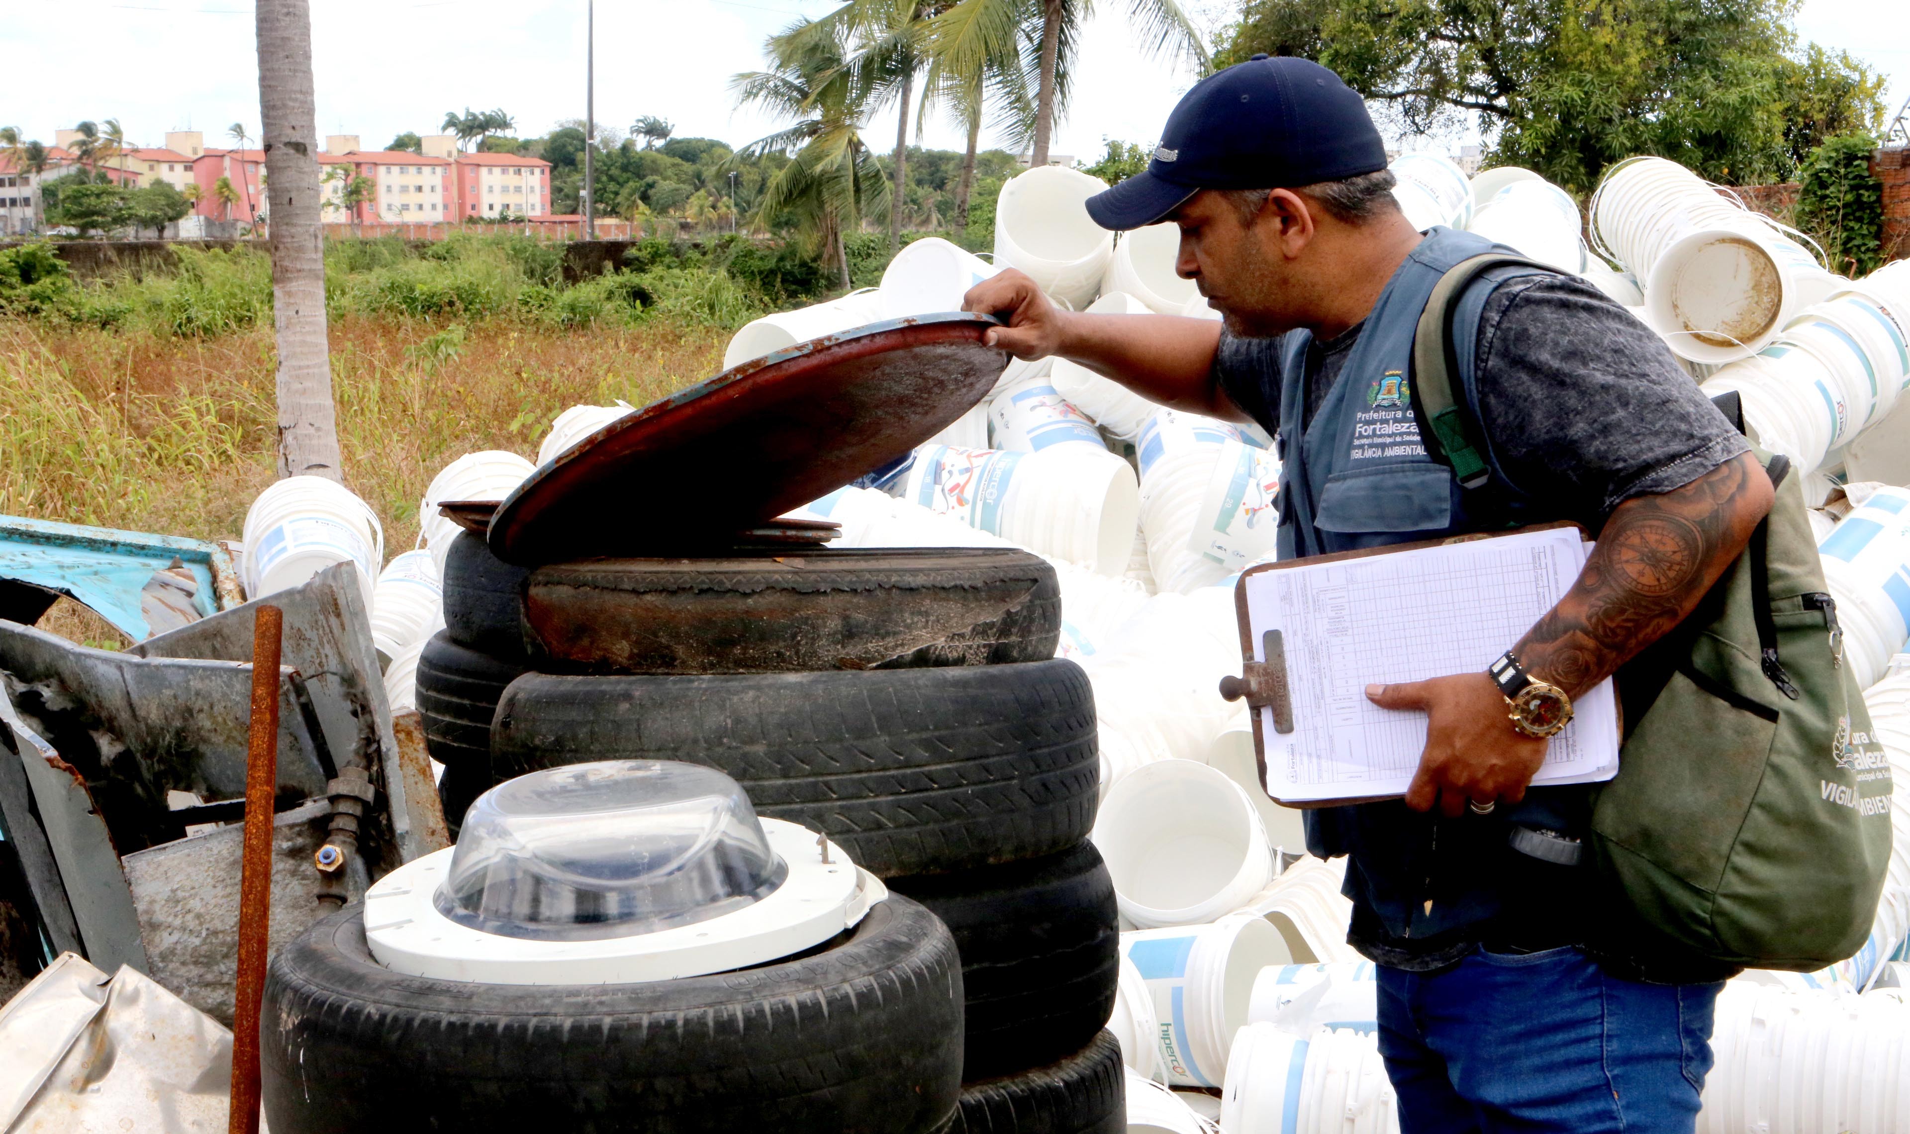
<path id="1" fill-rule="evenodd" d="M 0 580 L 23 603 L 0 617 L 32 622 L 32 592 L 57 592 L 134 641 L 239 603 L 231 556 L 218 544 L 23 515 L 0 515 Z"/>

